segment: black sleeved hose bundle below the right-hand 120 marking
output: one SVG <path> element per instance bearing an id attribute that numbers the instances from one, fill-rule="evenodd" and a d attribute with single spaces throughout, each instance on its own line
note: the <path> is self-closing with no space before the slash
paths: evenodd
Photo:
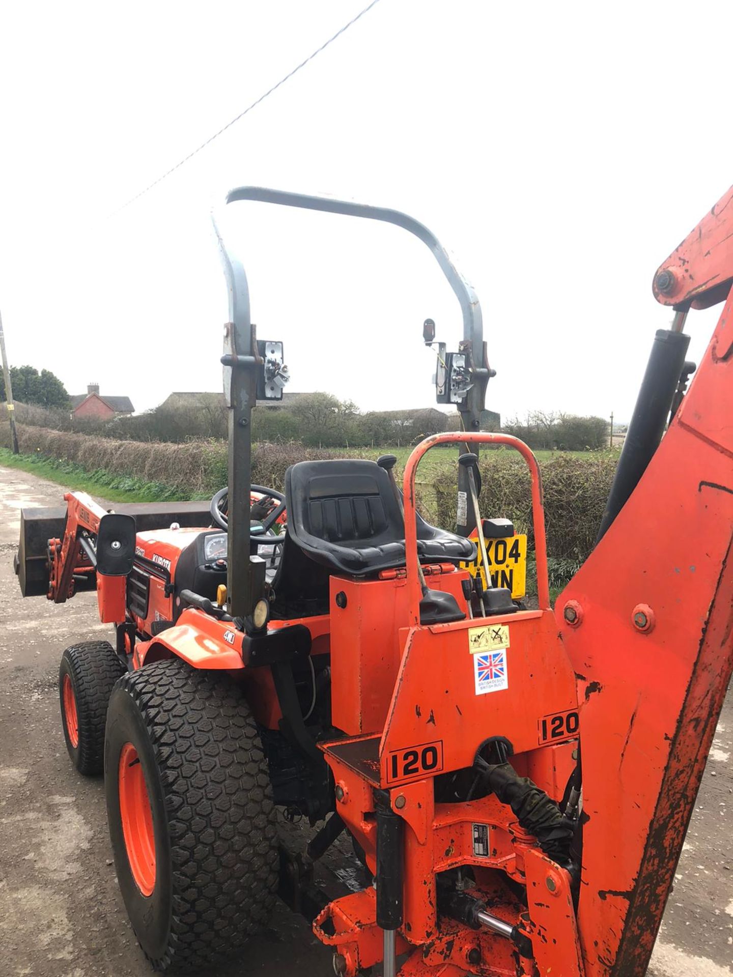
<path id="1" fill-rule="evenodd" d="M 527 777 L 519 777 L 509 763 L 490 764 L 478 757 L 476 766 L 501 803 L 512 809 L 521 827 L 535 835 L 544 854 L 567 866 L 575 825 L 552 798 Z"/>

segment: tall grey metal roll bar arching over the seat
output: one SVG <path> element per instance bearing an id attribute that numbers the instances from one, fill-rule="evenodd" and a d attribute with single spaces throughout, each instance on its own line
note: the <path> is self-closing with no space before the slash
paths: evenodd
<path id="1" fill-rule="evenodd" d="M 478 430 L 489 371 L 485 363 L 481 306 L 473 287 L 453 265 L 441 242 L 419 221 L 399 210 L 372 207 L 350 200 L 311 196 L 305 193 L 271 190 L 267 187 L 237 187 L 227 194 L 227 203 L 254 200 L 302 210 L 318 210 L 347 217 L 363 217 L 404 228 L 418 237 L 434 255 L 453 288 L 463 317 L 463 340 L 471 351 L 477 382 L 460 407 L 466 427 Z M 212 218 L 213 219 L 213 218 Z M 251 482 L 251 412 L 256 400 L 257 351 L 253 343 L 249 311 L 249 288 L 244 267 L 227 248 L 214 220 L 220 256 L 229 289 L 229 322 L 225 331 L 225 389 L 229 391 L 229 573 L 230 611 L 248 614 L 258 594 L 249 561 L 249 485 Z M 231 375 L 228 370 L 231 369 Z M 466 423 L 467 422 L 467 423 Z"/>

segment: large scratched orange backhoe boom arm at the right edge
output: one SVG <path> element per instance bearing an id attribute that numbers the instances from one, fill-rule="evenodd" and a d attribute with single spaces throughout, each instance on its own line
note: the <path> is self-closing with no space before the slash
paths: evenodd
<path id="1" fill-rule="evenodd" d="M 725 300 L 660 446 L 555 611 L 579 680 L 587 977 L 646 972 L 733 667 L 733 247 L 728 191 L 654 279 Z"/>

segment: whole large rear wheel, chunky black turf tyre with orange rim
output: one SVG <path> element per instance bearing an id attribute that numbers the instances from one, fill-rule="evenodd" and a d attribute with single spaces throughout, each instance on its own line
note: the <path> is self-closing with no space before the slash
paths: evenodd
<path id="1" fill-rule="evenodd" d="M 109 700 L 109 835 L 122 898 L 156 970 L 201 969 L 267 922 L 278 832 L 267 761 L 239 688 L 179 660 Z"/>

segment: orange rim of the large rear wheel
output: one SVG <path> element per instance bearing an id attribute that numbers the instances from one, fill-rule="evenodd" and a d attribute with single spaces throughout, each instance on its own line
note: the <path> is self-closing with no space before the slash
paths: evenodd
<path id="1" fill-rule="evenodd" d="M 132 743 L 125 743 L 119 755 L 119 814 L 127 861 L 135 884 L 144 896 L 155 887 L 155 836 L 152 832 L 151 800 L 143 764 Z"/>

